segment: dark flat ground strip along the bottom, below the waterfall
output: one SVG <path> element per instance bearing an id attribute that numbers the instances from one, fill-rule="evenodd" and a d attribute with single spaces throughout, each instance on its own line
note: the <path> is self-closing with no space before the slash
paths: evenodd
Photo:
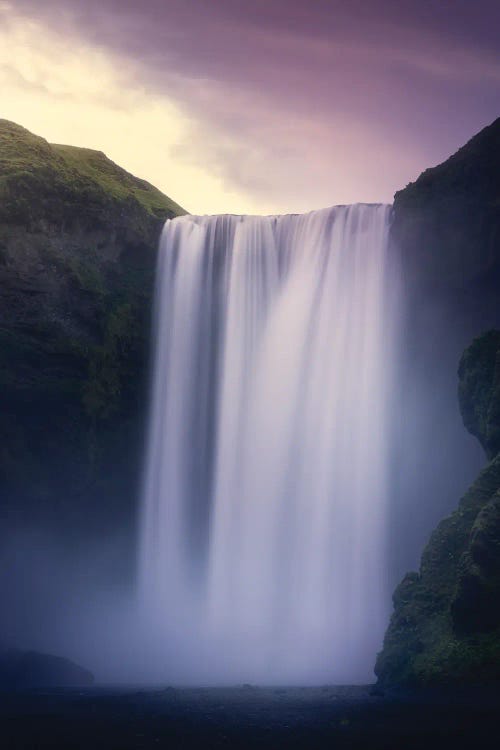
<path id="1" fill-rule="evenodd" d="M 0 703 L 9 750 L 497 747 L 500 690 L 369 695 L 368 687 L 80 689 Z"/>

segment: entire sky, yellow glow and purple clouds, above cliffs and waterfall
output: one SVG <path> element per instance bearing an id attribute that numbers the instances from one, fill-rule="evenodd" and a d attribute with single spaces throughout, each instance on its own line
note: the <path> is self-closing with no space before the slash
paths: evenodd
<path id="1" fill-rule="evenodd" d="M 500 11 L 376 5 L 0 0 L 0 116 L 194 214 L 392 202 L 498 116 Z"/>

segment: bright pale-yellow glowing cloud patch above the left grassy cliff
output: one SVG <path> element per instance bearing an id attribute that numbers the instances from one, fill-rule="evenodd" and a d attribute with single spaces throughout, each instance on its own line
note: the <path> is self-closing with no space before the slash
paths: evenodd
<path id="1" fill-rule="evenodd" d="M 3 14 L 0 6 L 0 21 Z M 126 58 L 11 15 L 0 23 L 0 88 L 0 117 L 54 143 L 103 150 L 189 210 L 262 210 L 176 158 L 191 121 L 174 100 L 142 86 Z"/>

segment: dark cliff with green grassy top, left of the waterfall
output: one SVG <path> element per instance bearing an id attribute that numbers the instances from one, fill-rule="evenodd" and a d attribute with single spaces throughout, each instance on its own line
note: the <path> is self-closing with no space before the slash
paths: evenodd
<path id="1" fill-rule="evenodd" d="M 156 247 L 184 213 L 104 154 L 0 120 L 0 513 L 134 512 Z"/>

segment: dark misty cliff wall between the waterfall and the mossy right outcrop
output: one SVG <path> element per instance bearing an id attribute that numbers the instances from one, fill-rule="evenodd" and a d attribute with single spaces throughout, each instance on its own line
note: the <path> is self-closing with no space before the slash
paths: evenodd
<path id="1" fill-rule="evenodd" d="M 460 419 L 456 368 L 473 339 L 500 328 L 500 119 L 396 193 L 391 238 L 404 308 L 390 529 L 400 578 L 484 465 Z M 477 415 L 464 418 L 477 435 Z"/>

